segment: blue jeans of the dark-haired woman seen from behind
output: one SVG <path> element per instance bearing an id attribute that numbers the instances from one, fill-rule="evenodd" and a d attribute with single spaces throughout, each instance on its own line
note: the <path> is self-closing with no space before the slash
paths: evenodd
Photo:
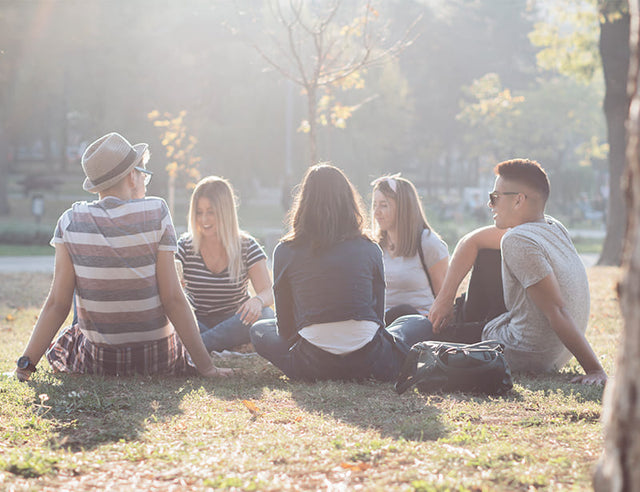
<path id="1" fill-rule="evenodd" d="M 291 345 L 278 335 L 276 320 L 258 321 L 250 330 L 256 352 L 291 379 L 395 381 L 409 349 L 432 333 L 424 316 L 403 316 L 380 328 L 364 347 L 347 354 L 332 354 L 302 337 Z"/>

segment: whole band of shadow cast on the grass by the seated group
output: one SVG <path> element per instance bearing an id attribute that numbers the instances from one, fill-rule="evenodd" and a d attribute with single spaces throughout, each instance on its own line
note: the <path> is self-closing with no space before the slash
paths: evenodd
<path id="1" fill-rule="evenodd" d="M 447 399 L 491 403 L 490 397 L 469 394 L 439 394 L 435 398 L 407 392 L 399 396 L 390 383 L 375 381 L 303 383 L 287 379 L 268 362 L 258 358 L 230 360 L 220 365 L 243 369 L 243 374 L 225 380 L 158 377 L 70 376 L 41 373 L 33 385 L 36 394 L 46 393 L 51 410 L 46 418 L 55 427 L 51 446 L 71 451 L 91 450 L 106 443 L 141 438 L 150 425 L 170 421 L 183 413 L 186 397 L 200 392 L 207 401 L 233 405 L 224 411 L 247 412 L 243 400 L 273 405 L 273 414 L 298 410 L 334 419 L 381 437 L 406 441 L 435 441 L 451 434 L 451 422 L 437 404 Z M 558 400 L 562 421 L 597 421 L 599 411 L 580 408 L 584 402 L 602 399 L 602 388 L 568 383 L 565 373 L 545 376 L 516 374 L 514 389 L 502 402 L 541 405 Z M 291 400 L 287 403 L 287 400 Z M 567 401 L 576 405 L 567 405 Z M 435 403 L 435 404 L 434 404 Z M 226 405 L 226 404 L 225 404 Z M 203 411 L 207 411 L 203 407 Z M 263 408 L 265 410 L 265 408 Z M 251 418 L 247 412 L 247 419 Z M 286 420 L 286 419 L 285 419 Z"/>

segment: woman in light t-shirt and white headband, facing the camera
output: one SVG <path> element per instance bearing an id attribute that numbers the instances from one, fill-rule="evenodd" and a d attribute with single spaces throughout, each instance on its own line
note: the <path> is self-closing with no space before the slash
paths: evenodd
<path id="1" fill-rule="evenodd" d="M 388 326 L 399 316 L 428 314 L 447 273 L 449 250 L 429 227 L 411 181 L 396 174 L 371 184 L 372 230 L 383 251 Z"/>

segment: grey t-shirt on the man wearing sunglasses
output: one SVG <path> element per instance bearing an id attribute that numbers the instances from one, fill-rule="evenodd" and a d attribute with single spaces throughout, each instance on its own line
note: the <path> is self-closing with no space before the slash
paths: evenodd
<path id="1" fill-rule="evenodd" d="M 565 227 L 553 217 L 528 222 L 502 238 L 502 283 L 507 312 L 489 321 L 483 340 L 505 344 L 512 370 L 549 371 L 571 357 L 526 289 L 550 273 L 558 280 L 567 311 L 578 330 L 589 321 L 589 284 L 582 260 Z"/>

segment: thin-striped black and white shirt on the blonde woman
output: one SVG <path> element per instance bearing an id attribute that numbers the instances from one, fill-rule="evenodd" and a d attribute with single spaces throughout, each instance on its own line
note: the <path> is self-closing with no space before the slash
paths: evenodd
<path id="1" fill-rule="evenodd" d="M 176 258 L 182 262 L 187 297 L 193 306 L 198 320 L 232 315 L 249 299 L 249 269 L 260 260 L 267 258 L 264 250 L 249 236 L 242 236 L 242 271 L 240 277 L 231 278 L 229 269 L 213 273 L 207 268 L 202 255 L 193 249 L 193 240 L 189 234 L 178 239 Z"/>

